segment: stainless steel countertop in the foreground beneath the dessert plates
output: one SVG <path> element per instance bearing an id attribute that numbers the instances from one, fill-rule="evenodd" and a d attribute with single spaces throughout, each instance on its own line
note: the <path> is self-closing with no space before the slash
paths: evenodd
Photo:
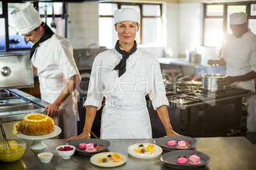
<path id="1" fill-rule="evenodd" d="M 256 169 L 256 147 L 245 137 L 222 138 L 196 138 L 198 145 L 195 150 L 203 152 L 210 157 L 210 163 L 200 169 Z M 67 143 L 66 140 L 43 140 L 47 146 L 44 150 L 31 150 L 31 141 L 24 140 L 27 148 L 23 157 L 16 162 L 0 162 L 1 169 L 106 169 L 90 163 L 90 156 L 74 154 L 70 159 L 62 159 L 56 151 L 56 147 Z M 108 140 L 110 147 L 106 152 L 118 152 L 124 154 L 127 162 L 122 166 L 109 167 L 108 169 L 171 169 L 160 160 L 160 156 L 153 159 L 137 159 L 127 153 L 127 148 L 135 143 L 153 143 L 150 140 Z M 38 153 L 52 152 L 50 163 L 42 164 L 37 157 Z M 162 155 L 169 151 L 163 150 Z"/>

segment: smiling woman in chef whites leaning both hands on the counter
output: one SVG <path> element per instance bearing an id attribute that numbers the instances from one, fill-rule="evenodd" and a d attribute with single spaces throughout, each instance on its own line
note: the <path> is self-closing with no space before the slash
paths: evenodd
<path id="1" fill-rule="evenodd" d="M 99 53 L 94 59 L 83 133 L 68 140 L 90 138 L 97 110 L 106 98 L 101 117 L 101 139 L 152 138 L 145 96 L 149 94 L 167 136 L 179 135 L 171 127 L 166 105 L 166 90 L 158 60 L 137 49 L 139 13 L 122 8 L 114 13 L 119 40 L 115 48 Z"/>

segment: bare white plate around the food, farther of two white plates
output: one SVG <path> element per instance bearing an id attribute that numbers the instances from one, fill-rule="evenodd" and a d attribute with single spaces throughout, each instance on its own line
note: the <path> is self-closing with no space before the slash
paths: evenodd
<path id="1" fill-rule="evenodd" d="M 145 148 L 149 145 L 149 143 L 142 143 L 142 144 L 144 145 Z M 151 144 L 155 148 L 155 150 L 153 152 L 145 152 L 144 154 L 136 153 L 134 149 L 138 149 L 139 145 L 141 145 L 141 143 L 131 145 L 127 149 L 127 152 L 130 155 L 132 155 L 132 157 L 136 157 L 136 158 L 140 158 L 140 159 L 152 159 L 152 158 L 158 157 L 159 155 L 162 154 L 162 148 L 157 145 L 154 145 L 154 144 Z"/>

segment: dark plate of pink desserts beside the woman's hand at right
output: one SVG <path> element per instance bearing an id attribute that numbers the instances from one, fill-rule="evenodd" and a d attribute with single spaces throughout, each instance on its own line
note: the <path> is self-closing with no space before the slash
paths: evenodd
<path id="1" fill-rule="evenodd" d="M 155 144 L 164 150 L 188 150 L 193 149 L 197 145 L 197 140 L 188 136 L 167 136 L 158 138 Z"/>

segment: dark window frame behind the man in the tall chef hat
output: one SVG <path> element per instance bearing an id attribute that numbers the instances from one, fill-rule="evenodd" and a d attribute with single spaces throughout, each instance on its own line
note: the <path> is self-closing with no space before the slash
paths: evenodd
<path id="1" fill-rule="evenodd" d="M 11 51 L 28 51 L 31 50 L 31 48 L 15 48 L 15 49 L 10 49 L 10 41 L 9 41 L 9 29 L 8 29 L 8 3 L 23 3 L 20 0 L 9 0 L 4 1 L 4 0 L 0 0 L 2 2 L 3 5 L 3 14 L 0 15 L 0 18 L 4 18 L 4 29 L 5 29 L 5 45 L 6 45 L 6 49 L 5 51 L 0 51 L 0 53 L 3 52 L 11 52 Z M 59 3 L 59 1 L 52 1 L 53 3 Z M 33 3 L 34 8 L 36 8 L 36 10 L 38 10 L 39 6 L 38 6 L 39 2 L 35 2 Z M 42 2 L 44 3 L 44 2 Z M 46 2 L 47 3 L 47 2 Z M 65 30 L 64 30 L 64 35 L 65 37 L 67 37 L 67 23 L 68 23 L 68 15 L 67 15 L 67 4 L 66 2 L 62 2 L 62 11 L 63 13 L 61 15 L 55 15 L 55 18 L 62 18 L 62 20 L 64 19 L 65 21 Z M 49 18 L 52 18 L 52 15 L 47 15 Z M 40 15 L 41 18 L 44 17 L 44 15 Z"/>

